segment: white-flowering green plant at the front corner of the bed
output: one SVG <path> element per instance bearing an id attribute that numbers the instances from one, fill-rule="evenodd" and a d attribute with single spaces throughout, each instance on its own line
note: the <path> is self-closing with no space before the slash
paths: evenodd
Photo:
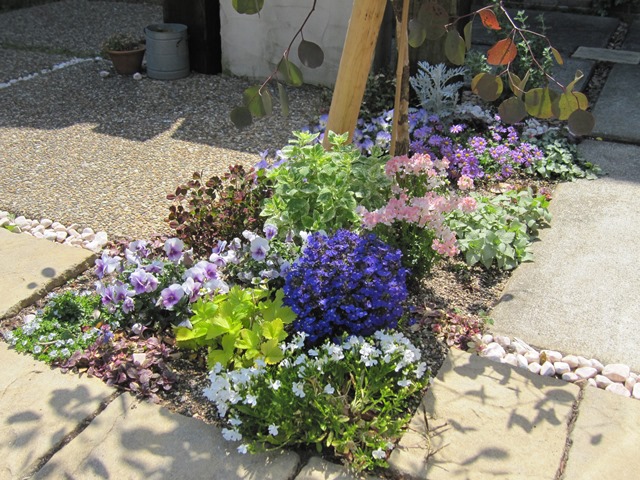
<path id="1" fill-rule="evenodd" d="M 242 442 L 241 453 L 315 446 L 355 470 L 387 466 L 411 418 L 407 401 L 429 379 L 420 351 L 385 331 L 303 346 L 299 335 L 277 365 L 211 372 L 204 393 L 227 418 L 224 438 Z"/>

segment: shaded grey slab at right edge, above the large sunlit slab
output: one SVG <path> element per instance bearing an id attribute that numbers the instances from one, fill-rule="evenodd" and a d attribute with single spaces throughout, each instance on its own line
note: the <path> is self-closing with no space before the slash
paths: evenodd
<path id="1" fill-rule="evenodd" d="M 640 66 L 614 65 L 593 109 L 596 125 L 592 136 L 640 143 L 638 85 Z"/>

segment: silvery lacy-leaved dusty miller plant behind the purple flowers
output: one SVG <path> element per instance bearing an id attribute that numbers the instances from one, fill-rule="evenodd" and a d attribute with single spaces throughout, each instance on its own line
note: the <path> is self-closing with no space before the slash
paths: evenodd
<path id="1" fill-rule="evenodd" d="M 458 102 L 458 90 L 463 82 L 450 82 L 452 78 L 464 77 L 464 67 L 449 68 L 444 63 L 430 65 L 418 62 L 418 73 L 409 79 L 418 94 L 422 108 L 440 117 L 450 115 Z"/>

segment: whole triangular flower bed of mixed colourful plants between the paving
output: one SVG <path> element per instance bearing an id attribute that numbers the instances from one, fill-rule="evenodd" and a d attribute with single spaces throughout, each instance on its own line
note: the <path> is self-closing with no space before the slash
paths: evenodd
<path id="1" fill-rule="evenodd" d="M 505 272 L 532 260 L 550 182 L 593 175 L 558 127 L 469 104 L 414 110 L 391 158 L 389 115 L 353 144 L 324 150 L 320 123 L 253 170 L 194 175 L 168 197 L 174 237 L 111 245 L 81 295 L 5 339 L 175 402 L 241 453 L 386 466 L 444 346 L 475 348 Z"/>

